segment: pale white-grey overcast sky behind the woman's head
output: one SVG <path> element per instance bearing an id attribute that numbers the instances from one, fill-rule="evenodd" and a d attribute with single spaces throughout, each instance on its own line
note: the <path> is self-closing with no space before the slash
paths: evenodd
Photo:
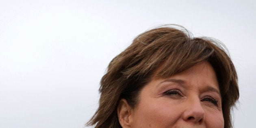
<path id="1" fill-rule="evenodd" d="M 253 128 L 254 0 L 1 0 L 0 128 L 82 128 L 111 59 L 163 24 L 226 45 L 239 75 L 234 128 Z"/>

